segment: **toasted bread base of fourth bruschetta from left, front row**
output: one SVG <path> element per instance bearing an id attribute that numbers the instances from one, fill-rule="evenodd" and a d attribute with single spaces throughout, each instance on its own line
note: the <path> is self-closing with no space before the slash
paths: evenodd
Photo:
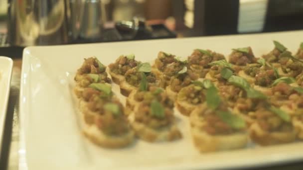
<path id="1" fill-rule="evenodd" d="M 251 139 L 263 146 L 290 143 L 296 139 L 296 131 L 288 132 L 266 132 L 255 122 L 249 128 Z"/>

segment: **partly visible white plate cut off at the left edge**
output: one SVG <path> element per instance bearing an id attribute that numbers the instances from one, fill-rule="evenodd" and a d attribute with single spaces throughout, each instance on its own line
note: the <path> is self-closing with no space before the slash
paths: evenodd
<path id="1" fill-rule="evenodd" d="M 11 72 L 12 60 L 8 57 L 0 56 L 0 146 L 2 145 L 2 136 L 4 131 L 6 109 L 9 97 Z"/>

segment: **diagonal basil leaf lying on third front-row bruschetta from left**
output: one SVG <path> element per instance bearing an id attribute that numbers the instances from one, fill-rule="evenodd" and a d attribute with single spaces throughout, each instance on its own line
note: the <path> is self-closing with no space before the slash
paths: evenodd
<path id="1" fill-rule="evenodd" d="M 233 129 L 243 129 L 246 127 L 245 121 L 229 111 L 217 111 L 216 114 L 220 117 L 220 119 L 231 126 Z"/>

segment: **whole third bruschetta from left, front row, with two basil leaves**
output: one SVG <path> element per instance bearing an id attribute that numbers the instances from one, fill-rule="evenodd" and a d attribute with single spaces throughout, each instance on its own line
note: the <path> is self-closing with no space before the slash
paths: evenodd
<path id="1" fill-rule="evenodd" d="M 207 89 L 206 102 L 192 111 L 189 121 L 200 152 L 239 149 L 248 143 L 245 121 L 231 113 L 214 86 Z"/>

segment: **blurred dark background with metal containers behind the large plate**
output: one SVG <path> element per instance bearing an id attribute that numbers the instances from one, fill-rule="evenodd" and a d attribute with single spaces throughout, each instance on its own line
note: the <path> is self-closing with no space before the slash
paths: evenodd
<path id="1" fill-rule="evenodd" d="M 0 0 L 0 55 L 30 45 L 298 29 L 303 0 Z"/>

